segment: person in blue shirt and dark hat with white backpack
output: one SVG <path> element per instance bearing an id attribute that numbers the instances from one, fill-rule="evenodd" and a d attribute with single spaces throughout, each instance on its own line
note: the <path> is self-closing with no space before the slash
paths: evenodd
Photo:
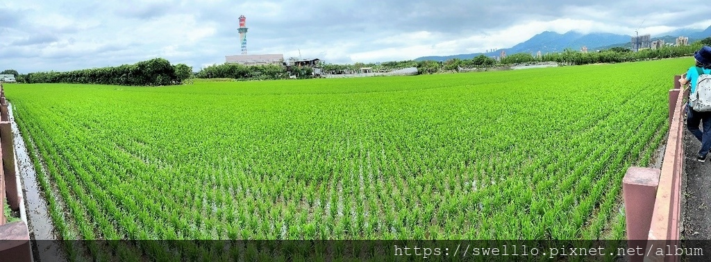
<path id="1" fill-rule="evenodd" d="M 696 65 L 690 67 L 686 72 L 686 77 L 679 80 L 682 85 L 691 84 L 690 94 L 696 91 L 696 81 L 699 77 L 699 70 L 703 74 L 711 74 L 711 47 L 703 46 L 700 50 L 694 53 Z M 703 163 L 711 150 L 711 112 L 699 112 L 686 107 L 686 127 L 689 131 L 701 141 L 701 149 L 696 160 Z M 699 124 L 702 124 L 702 130 L 699 129 Z"/>

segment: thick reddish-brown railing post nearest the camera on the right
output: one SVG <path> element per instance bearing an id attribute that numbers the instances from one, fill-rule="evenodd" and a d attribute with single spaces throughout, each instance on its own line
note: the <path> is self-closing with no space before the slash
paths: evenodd
<path id="1" fill-rule="evenodd" d="M 622 179 L 622 195 L 629 247 L 647 246 L 649 226 L 659 185 L 661 170 L 631 167 Z M 631 256 L 630 261 L 643 261 L 643 256 Z"/>

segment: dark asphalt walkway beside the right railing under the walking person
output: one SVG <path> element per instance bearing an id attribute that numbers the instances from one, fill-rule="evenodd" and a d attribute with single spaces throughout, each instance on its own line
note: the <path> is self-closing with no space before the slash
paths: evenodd
<path id="1" fill-rule="evenodd" d="M 701 143 L 684 131 L 686 178 L 682 185 L 684 219 L 682 239 L 711 239 L 711 159 L 698 163 L 696 154 Z"/>

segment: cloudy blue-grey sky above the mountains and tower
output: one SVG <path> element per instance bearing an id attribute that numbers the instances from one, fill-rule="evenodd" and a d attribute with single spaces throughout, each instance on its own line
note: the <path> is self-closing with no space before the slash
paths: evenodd
<path id="1" fill-rule="evenodd" d="M 203 0 L 0 2 L 0 70 L 65 71 L 166 58 L 201 67 L 240 54 L 330 63 L 508 48 L 542 31 L 634 34 L 711 26 L 707 1 Z M 643 4 L 641 4 L 643 3 Z M 673 4 L 670 4 L 673 3 Z"/>

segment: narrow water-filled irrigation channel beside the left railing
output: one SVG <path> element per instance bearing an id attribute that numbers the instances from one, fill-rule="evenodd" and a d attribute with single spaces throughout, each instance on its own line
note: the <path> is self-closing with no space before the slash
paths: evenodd
<path id="1" fill-rule="evenodd" d="M 56 261 L 57 258 L 65 257 L 62 245 L 55 235 L 54 225 L 47 208 L 47 200 L 42 196 L 37 182 L 37 173 L 12 114 L 12 104 L 8 103 L 8 105 L 12 136 L 14 136 L 16 167 L 18 167 L 23 195 L 25 195 L 27 226 L 30 231 L 33 257 L 35 261 Z"/>

